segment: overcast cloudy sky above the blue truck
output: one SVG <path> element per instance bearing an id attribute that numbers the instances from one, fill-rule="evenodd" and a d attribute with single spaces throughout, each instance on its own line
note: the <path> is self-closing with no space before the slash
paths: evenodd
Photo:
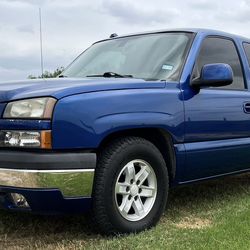
<path id="1" fill-rule="evenodd" d="M 0 81 L 40 74 L 39 7 L 46 70 L 111 33 L 197 27 L 250 37 L 247 0 L 0 0 Z"/>

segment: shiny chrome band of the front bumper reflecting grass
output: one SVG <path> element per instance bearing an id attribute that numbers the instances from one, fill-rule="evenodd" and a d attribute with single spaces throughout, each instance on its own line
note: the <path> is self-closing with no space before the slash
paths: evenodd
<path id="1" fill-rule="evenodd" d="M 65 197 L 92 194 L 94 169 L 27 170 L 0 169 L 0 186 L 59 189 Z"/>

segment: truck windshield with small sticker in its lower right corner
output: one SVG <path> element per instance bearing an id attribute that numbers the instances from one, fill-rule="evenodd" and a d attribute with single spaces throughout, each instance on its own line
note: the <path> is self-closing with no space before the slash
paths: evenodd
<path id="1" fill-rule="evenodd" d="M 98 42 L 82 53 L 62 75 L 176 81 L 191 37 L 191 33 L 157 33 Z"/>

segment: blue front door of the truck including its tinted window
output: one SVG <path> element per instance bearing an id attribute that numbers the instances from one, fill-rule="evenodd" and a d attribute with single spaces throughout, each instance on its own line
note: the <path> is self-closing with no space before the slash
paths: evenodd
<path id="1" fill-rule="evenodd" d="M 250 93 L 233 40 L 206 37 L 196 59 L 193 77 L 203 65 L 227 63 L 233 83 L 204 88 L 185 106 L 186 169 L 183 181 L 203 179 L 250 167 Z"/>

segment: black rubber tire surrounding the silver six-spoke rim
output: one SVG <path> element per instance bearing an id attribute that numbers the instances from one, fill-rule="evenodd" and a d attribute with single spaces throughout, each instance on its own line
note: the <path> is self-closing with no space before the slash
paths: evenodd
<path id="1" fill-rule="evenodd" d="M 130 161 L 140 159 L 148 162 L 157 179 L 157 195 L 150 212 L 139 221 L 126 220 L 119 212 L 115 201 L 115 184 L 123 167 Z M 106 213 L 110 222 L 121 232 L 137 232 L 154 226 L 163 213 L 168 195 L 168 171 L 159 150 L 150 144 L 132 144 L 121 153 L 114 154 L 107 168 L 104 184 Z"/>

